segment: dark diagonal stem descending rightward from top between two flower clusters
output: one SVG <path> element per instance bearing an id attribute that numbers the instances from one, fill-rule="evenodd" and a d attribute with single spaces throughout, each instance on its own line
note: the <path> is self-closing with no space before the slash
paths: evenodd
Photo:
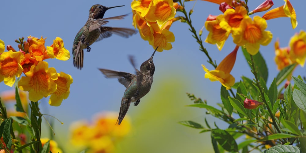
<path id="1" fill-rule="evenodd" d="M 192 36 L 193 36 L 193 38 L 196 39 L 196 42 L 200 45 L 200 50 L 203 51 L 203 52 L 206 54 L 207 58 L 209 59 L 207 62 L 210 63 L 211 65 L 213 65 L 213 66 L 216 68 L 216 67 L 217 67 L 217 64 L 215 64 L 215 63 L 213 62 L 213 60 L 211 59 L 211 57 L 209 56 L 209 54 L 208 54 L 206 48 L 204 48 L 204 46 L 203 46 L 203 41 L 202 41 L 202 39 L 201 39 L 201 36 L 198 36 L 198 35 L 197 35 L 195 28 L 194 28 L 194 27 L 192 26 L 192 24 L 191 24 L 192 21 L 191 21 L 190 15 L 191 15 L 192 13 L 189 12 L 189 13 L 188 13 L 189 15 L 188 15 L 187 12 L 186 12 L 186 10 L 185 10 L 185 4 L 184 4 L 181 0 L 179 0 L 179 2 L 180 2 L 180 5 L 183 6 L 183 8 L 184 8 L 184 9 L 181 10 L 181 12 L 184 13 L 186 23 L 190 26 L 189 31 L 193 33 Z"/>

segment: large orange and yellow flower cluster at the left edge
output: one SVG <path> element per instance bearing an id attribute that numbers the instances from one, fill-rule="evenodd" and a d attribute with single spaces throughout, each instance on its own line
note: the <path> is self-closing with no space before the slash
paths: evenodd
<path id="1" fill-rule="evenodd" d="M 53 41 L 53 44 L 45 47 L 45 39 L 29 36 L 27 41 L 24 38 L 15 40 L 19 51 L 16 51 L 11 45 L 7 45 L 7 52 L 3 52 L 4 42 L 0 41 L 0 82 L 12 87 L 16 76 L 22 76 L 18 82 L 18 88 L 23 91 L 29 91 L 29 99 L 38 101 L 49 95 L 49 104 L 59 106 L 63 99 L 66 99 L 70 93 L 70 84 L 73 79 L 70 75 L 63 72 L 57 73 L 55 68 L 49 68 L 45 62 L 48 58 L 57 58 L 59 60 L 68 60 L 69 51 L 65 49 L 63 40 L 59 37 Z"/>

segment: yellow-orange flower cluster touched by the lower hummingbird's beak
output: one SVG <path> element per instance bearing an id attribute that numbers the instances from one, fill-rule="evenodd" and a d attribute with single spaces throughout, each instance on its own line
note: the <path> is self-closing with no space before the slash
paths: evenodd
<path id="1" fill-rule="evenodd" d="M 174 16 L 181 6 L 173 0 L 133 0 L 131 7 L 133 25 L 141 38 L 149 41 L 153 48 L 158 47 L 157 51 L 170 50 L 175 37 L 169 28 L 180 19 Z"/>

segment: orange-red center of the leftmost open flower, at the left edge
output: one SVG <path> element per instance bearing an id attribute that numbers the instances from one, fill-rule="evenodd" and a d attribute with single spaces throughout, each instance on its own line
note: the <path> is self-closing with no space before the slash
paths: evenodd
<path id="1" fill-rule="evenodd" d="M 14 74 L 18 71 L 18 63 L 12 59 L 7 58 L 2 62 L 1 67 L 1 75 L 3 76 L 14 76 Z"/>

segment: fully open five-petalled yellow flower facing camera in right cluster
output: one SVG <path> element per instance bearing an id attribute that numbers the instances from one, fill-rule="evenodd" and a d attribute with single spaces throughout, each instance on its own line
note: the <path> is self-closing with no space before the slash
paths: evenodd
<path id="1" fill-rule="evenodd" d="M 233 42 L 238 46 L 246 47 L 251 55 L 259 51 L 260 45 L 268 45 L 272 40 L 272 33 L 265 31 L 267 22 L 259 16 L 255 16 L 254 21 L 251 17 L 244 17 L 239 28 L 232 29 Z"/>

